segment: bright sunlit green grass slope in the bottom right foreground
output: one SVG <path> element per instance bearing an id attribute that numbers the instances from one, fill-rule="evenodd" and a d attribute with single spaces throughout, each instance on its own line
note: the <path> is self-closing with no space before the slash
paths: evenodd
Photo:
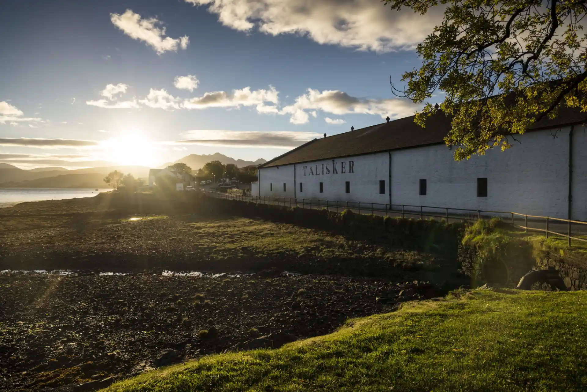
<path id="1" fill-rule="evenodd" d="M 278 350 L 204 357 L 108 391 L 583 391 L 587 293 L 475 290 Z"/>

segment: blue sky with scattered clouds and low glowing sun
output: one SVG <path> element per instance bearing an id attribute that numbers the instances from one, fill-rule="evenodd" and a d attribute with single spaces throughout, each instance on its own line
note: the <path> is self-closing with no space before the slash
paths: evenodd
<path id="1" fill-rule="evenodd" d="M 438 20 L 377 0 L 1 8 L 0 161 L 23 168 L 269 159 L 408 116 L 418 107 L 389 77 L 420 64 L 414 45 Z"/>

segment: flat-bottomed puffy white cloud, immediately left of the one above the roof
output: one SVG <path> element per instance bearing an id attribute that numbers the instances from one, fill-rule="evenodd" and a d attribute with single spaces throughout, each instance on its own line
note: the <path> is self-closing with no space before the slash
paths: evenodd
<path id="1" fill-rule="evenodd" d="M 186 99 L 183 103 L 185 109 L 207 109 L 208 107 L 241 107 L 255 106 L 262 113 L 276 113 L 274 106 L 267 106 L 265 103 L 278 104 L 279 92 L 275 87 L 269 86 L 268 90 L 259 89 L 251 90 L 251 87 L 245 87 L 240 90 L 232 90 L 227 93 L 224 91 L 215 91 L 205 93 L 201 97 Z"/>

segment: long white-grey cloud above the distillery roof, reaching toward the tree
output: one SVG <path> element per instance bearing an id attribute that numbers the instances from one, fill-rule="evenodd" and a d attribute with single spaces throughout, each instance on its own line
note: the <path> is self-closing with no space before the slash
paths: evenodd
<path id="1" fill-rule="evenodd" d="M 407 99 L 365 99 L 350 96 L 339 90 L 308 89 L 308 93 L 296 98 L 295 103 L 285 106 L 279 114 L 290 114 L 292 124 L 305 124 L 309 121 L 305 110 L 322 110 L 337 114 L 375 114 L 391 119 L 411 116 L 420 107 Z M 327 121 L 328 122 L 328 121 Z"/>

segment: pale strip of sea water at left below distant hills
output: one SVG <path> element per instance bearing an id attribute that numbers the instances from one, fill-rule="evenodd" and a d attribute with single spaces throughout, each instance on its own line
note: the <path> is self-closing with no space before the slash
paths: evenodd
<path id="1" fill-rule="evenodd" d="M 11 207 L 23 201 L 62 200 L 75 197 L 92 197 L 111 189 L 73 188 L 0 188 L 0 207 Z"/>

